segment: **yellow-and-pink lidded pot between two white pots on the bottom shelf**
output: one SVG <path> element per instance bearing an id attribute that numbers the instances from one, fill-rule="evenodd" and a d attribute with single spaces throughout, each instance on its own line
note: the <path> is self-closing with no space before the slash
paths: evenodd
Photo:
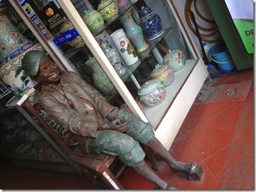
<path id="1" fill-rule="evenodd" d="M 157 64 L 150 76 L 153 80 L 160 80 L 164 87 L 169 87 L 174 83 L 174 71 L 165 64 Z"/>

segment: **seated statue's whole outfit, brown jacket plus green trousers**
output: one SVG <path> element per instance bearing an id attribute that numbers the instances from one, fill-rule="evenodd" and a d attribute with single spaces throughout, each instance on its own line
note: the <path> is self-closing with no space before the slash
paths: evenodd
<path id="1" fill-rule="evenodd" d="M 65 96 L 74 104 L 74 109 L 70 107 Z M 88 109 L 82 101 L 83 99 L 93 104 L 93 111 Z M 149 123 L 144 123 L 139 117 L 128 112 L 118 111 L 118 108 L 110 105 L 98 90 L 72 71 L 63 73 L 60 76 L 60 83 L 56 87 L 42 85 L 37 102 L 57 123 L 74 133 L 75 138 L 86 152 L 105 152 L 122 156 L 120 160 L 127 165 L 137 164 L 144 159 L 144 152 L 138 141 L 146 144 L 154 138 L 153 129 Z M 108 121 L 106 116 L 113 111 L 118 111 L 118 116 L 128 122 L 129 129 L 126 131 L 128 135 L 111 130 L 97 131 L 98 124 Z M 108 140 L 112 141 L 108 143 Z M 123 142 L 120 143 L 120 140 Z M 125 143 L 126 140 L 127 143 Z M 108 146 L 112 143 L 113 146 Z M 121 148 L 120 152 L 112 151 L 116 150 L 115 143 L 117 143 L 117 148 Z M 124 147 L 120 147 L 121 145 Z M 127 147 L 129 149 L 125 149 Z M 136 159 L 131 160 L 132 157 L 129 156 L 134 156 Z"/>

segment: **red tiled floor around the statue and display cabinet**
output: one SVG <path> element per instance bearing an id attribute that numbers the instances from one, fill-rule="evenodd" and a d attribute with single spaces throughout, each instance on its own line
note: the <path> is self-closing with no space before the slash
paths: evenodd
<path id="1" fill-rule="evenodd" d="M 219 92 L 208 100 L 195 100 L 169 150 L 177 160 L 202 165 L 202 181 L 179 178 L 165 162 L 155 172 L 179 189 L 253 189 L 253 68 L 221 75 L 206 87 Z M 227 88 L 238 92 L 227 98 L 223 95 Z M 87 179 L 74 174 L 1 162 L 0 170 L 1 189 L 96 189 Z M 131 167 L 122 172 L 119 181 L 125 189 L 155 188 Z"/>

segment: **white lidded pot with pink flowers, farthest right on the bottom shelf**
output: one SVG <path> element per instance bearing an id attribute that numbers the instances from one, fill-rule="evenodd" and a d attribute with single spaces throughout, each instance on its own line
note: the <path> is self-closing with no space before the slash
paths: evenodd
<path id="1" fill-rule="evenodd" d="M 174 70 L 174 72 L 180 71 L 184 68 L 184 64 L 186 63 L 186 55 L 181 50 L 169 50 L 163 57 L 163 64 L 167 64 L 170 68 Z"/>

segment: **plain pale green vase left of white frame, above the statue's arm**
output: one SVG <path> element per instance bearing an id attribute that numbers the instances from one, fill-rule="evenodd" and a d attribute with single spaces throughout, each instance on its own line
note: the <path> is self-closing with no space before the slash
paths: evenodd
<path id="1" fill-rule="evenodd" d="M 117 91 L 94 57 L 89 57 L 86 64 L 93 70 L 94 84 L 99 90 L 101 90 L 101 92 L 103 92 L 105 95 L 109 95 Z"/>

